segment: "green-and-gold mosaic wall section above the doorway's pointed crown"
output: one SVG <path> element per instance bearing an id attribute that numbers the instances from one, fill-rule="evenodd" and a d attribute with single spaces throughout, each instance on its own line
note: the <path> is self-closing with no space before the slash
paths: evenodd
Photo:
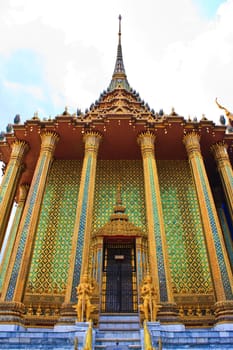
<path id="1" fill-rule="evenodd" d="M 143 167 L 140 160 L 98 160 L 94 199 L 94 231 L 109 221 L 122 185 L 122 203 L 130 222 L 146 231 Z"/>

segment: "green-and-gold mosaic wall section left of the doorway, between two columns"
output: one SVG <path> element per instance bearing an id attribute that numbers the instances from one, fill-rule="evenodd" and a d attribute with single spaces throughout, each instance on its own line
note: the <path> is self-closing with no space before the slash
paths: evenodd
<path id="1" fill-rule="evenodd" d="M 51 167 L 27 286 L 32 293 L 64 293 L 81 169 L 78 160 L 56 160 Z"/>

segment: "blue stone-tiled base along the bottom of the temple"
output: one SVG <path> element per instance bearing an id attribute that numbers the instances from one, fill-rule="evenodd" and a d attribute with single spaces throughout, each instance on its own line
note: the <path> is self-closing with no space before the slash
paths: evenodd
<path id="1" fill-rule="evenodd" d="M 23 328 L 18 325 L 0 325 L 0 349 L 9 350 L 81 350 L 84 346 L 88 323 L 75 325 L 58 325 L 54 329 Z M 213 328 L 185 328 L 183 325 L 161 325 L 159 322 L 149 322 L 148 329 L 151 333 L 153 347 L 158 348 L 159 341 L 163 350 L 184 349 L 233 349 L 233 324 L 219 324 Z M 101 332 L 104 338 L 104 330 L 93 331 L 93 344 L 95 332 Z M 111 330 L 108 330 L 108 336 Z M 128 337 L 134 331 L 126 334 Z M 103 333 L 103 334 L 102 334 Z M 124 333 L 124 332 L 122 332 Z M 114 333 L 114 337 L 116 334 Z M 139 332 L 141 348 L 143 349 L 143 329 Z M 76 344 L 76 347 L 75 347 Z M 114 344 L 113 344 L 114 345 Z M 128 346 L 128 345 L 127 345 Z M 128 348 L 136 347 L 133 343 Z M 106 346 L 93 345 L 93 349 L 105 349 Z M 137 349 L 140 345 L 137 346 Z"/>

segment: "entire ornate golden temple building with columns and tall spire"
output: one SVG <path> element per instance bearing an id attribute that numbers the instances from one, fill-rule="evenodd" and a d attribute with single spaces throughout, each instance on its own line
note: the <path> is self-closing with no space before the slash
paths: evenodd
<path id="1" fill-rule="evenodd" d="M 89 109 L 16 118 L 1 134 L 0 248 L 17 203 L 0 266 L 3 343 L 24 332 L 36 349 L 29 333 L 57 332 L 73 342 L 64 349 L 91 349 L 91 327 L 100 349 L 101 324 L 130 335 L 136 322 L 138 348 L 169 348 L 175 329 L 184 346 L 199 332 L 202 349 L 208 328 L 207 345 L 230 349 L 233 116 L 217 104 L 228 125 L 151 109 L 127 80 L 120 19 L 112 79 Z"/>

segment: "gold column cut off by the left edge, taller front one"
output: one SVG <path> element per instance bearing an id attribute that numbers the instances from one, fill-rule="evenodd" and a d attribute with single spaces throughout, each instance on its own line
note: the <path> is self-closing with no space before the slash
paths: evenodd
<path id="1" fill-rule="evenodd" d="M 23 157 L 28 148 L 28 144 L 25 141 L 15 141 L 12 144 L 10 161 L 0 186 L 0 250 L 14 202 L 16 188 L 23 169 Z"/>

